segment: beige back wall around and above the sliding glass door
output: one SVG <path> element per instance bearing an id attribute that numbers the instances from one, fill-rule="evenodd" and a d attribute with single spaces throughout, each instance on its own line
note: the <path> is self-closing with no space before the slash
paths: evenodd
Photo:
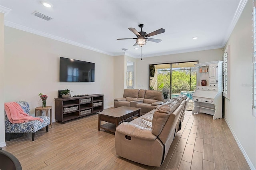
<path id="1" fill-rule="evenodd" d="M 189 53 L 179 53 L 171 55 L 162 55 L 156 57 L 146 57 L 136 61 L 136 85 L 135 89 L 148 89 L 148 65 L 160 63 L 175 63 L 185 61 L 199 61 L 204 63 L 208 61 L 222 60 L 224 51 L 222 49 L 211 49 L 204 51 L 195 51 Z"/>

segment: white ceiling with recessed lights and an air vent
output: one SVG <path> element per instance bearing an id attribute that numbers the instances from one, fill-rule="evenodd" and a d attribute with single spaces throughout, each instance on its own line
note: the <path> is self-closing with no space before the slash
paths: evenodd
<path id="1" fill-rule="evenodd" d="M 129 27 L 150 33 L 160 28 L 165 33 L 150 38 L 143 57 L 222 48 L 236 23 L 244 0 L 49 0 L 46 8 L 36 0 L 1 0 L 2 9 L 10 8 L 5 25 L 100 51 L 109 55 L 124 53 L 139 58 L 134 49 L 136 38 Z M 7 9 L 8 11 L 8 9 Z M 40 12 L 53 20 L 33 15 Z M 197 40 L 192 38 L 197 36 Z M 136 46 L 139 47 L 139 46 Z"/>

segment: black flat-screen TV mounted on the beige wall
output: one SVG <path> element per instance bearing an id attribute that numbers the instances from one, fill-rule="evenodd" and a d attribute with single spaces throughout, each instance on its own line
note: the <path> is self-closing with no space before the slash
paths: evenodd
<path id="1" fill-rule="evenodd" d="M 60 57 L 60 81 L 94 82 L 94 63 Z"/>

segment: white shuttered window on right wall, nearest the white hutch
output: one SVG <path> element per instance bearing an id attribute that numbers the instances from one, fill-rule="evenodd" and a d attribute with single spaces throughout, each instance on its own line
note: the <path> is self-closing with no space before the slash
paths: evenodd
<path id="1" fill-rule="evenodd" d="M 230 99 L 230 45 L 224 51 L 222 83 L 223 96 Z"/>

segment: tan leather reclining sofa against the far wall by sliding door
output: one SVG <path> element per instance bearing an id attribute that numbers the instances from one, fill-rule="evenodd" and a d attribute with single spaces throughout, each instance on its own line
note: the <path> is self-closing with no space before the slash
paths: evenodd
<path id="1" fill-rule="evenodd" d="M 123 97 L 114 99 L 114 108 L 121 106 L 141 108 L 140 115 L 144 115 L 156 106 L 164 104 L 162 91 L 144 89 L 124 89 Z"/>

